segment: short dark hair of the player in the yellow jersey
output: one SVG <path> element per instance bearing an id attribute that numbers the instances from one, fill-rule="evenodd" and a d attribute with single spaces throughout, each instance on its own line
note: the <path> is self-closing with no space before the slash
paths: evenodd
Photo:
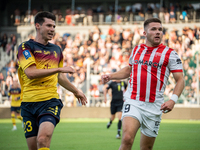
<path id="1" fill-rule="evenodd" d="M 48 11 L 41 11 L 38 12 L 35 16 L 34 23 L 39 23 L 42 25 L 44 23 L 44 18 L 52 19 L 53 21 L 56 21 L 56 16 Z"/>

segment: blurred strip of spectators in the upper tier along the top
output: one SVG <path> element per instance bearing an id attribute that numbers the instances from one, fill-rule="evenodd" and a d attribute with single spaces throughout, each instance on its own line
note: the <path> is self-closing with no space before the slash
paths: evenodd
<path id="1" fill-rule="evenodd" d="M 13 13 L 13 23 L 15 25 L 33 24 L 34 16 L 37 12 L 38 10 L 35 8 L 30 13 L 29 10 L 17 8 Z M 199 7 L 194 7 L 192 4 L 181 6 L 180 3 L 170 4 L 169 7 L 160 7 L 159 3 L 148 3 L 147 6 L 143 6 L 141 3 L 118 6 L 117 16 L 115 16 L 114 4 L 109 5 L 107 11 L 102 5 L 90 7 L 89 9 L 76 7 L 74 11 L 68 8 L 65 12 L 57 8 L 52 9 L 52 13 L 57 17 L 57 23 L 62 25 L 110 24 L 113 22 L 119 24 L 125 22 L 135 23 L 150 17 L 159 17 L 164 23 L 188 22 L 189 20 L 200 19 L 198 12 L 200 12 Z"/>

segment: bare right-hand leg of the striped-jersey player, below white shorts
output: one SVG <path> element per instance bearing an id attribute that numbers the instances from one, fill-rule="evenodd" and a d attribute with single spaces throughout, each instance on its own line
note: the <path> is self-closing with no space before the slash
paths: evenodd
<path id="1" fill-rule="evenodd" d="M 148 137 L 141 133 L 140 150 L 152 150 L 155 139 L 155 137 Z"/>

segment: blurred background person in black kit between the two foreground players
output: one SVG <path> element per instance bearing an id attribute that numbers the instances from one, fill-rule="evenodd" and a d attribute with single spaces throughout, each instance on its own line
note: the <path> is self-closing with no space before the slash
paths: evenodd
<path id="1" fill-rule="evenodd" d="M 112 90 L 112 100 L 110 103 L 110 111 L 111 111 L 111 117 L 110 121 L 107 124 L 107 128 L 109 128 L 112 124 L 112 121 L 115 119 L 115 114 L 117 114 L 117 117 L 119 119 L 118 124 L 117 124 L 117 136 L 116 138 L 120 139 L 121 137 L 121 117 L 122 117 L 122 107 L 123 107 L 123 93 L 125 92 L 125 89 L 127 87 L 127 84 L 125 81 L 120 81 L 120 80 L 113 80 L 109 82 L 108 84 L 105 85 L 104 88 L 104 102 L 107 102 L 107 93 L 108 90 Z"/>

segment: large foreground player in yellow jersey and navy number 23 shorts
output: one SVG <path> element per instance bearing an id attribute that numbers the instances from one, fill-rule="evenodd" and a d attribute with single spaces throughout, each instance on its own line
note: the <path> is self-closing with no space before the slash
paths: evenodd
<path id="1" fill-rule="evenodd" d="M 48 42 L 55 34 L 55 19 L 50 12 L 39 12 L 34 21 L 36 38 L 23 42 L 18 48 L 21 115 L 29 150 L 50 148 L 63 107 L 57 93 L 57 83 L 71 91 L 83 105 L 87 103 L 85 95 L 64 75 L 74 73 L 74 69 L 63 67 L 60 47 Z"/>

